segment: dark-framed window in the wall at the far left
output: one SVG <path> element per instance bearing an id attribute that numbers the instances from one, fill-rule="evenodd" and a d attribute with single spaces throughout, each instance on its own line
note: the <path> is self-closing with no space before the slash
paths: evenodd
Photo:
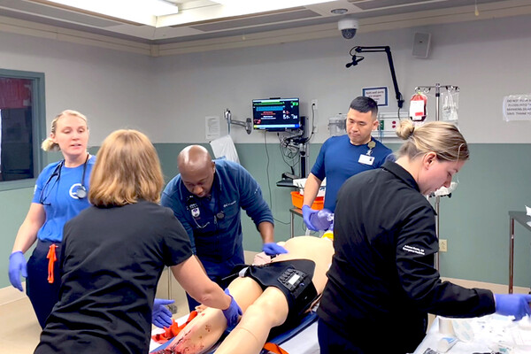
<path id="1" fill-rule="evenodd" d="M 0 190 L 35 184 L 45 125 L 44 74 L 0 69 Z"/>

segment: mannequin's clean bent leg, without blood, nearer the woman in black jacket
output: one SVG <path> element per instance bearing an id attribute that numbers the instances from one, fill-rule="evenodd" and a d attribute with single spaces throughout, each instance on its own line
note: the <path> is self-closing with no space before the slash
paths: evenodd
<path id="1" fill-rule="evenodd" d="M 271 328 L 288 317 L 288 300 L 281 290 L 267 288 L 244 312 L 240 323 L 221 343 L 216 354 L 258 354 Z"/>

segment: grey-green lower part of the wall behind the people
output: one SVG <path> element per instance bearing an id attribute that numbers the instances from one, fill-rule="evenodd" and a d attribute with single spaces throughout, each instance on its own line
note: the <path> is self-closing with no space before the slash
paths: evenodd
<path id="1" fill-rule="evenodd" d="M 176 157 L 187 144 L 155 144 L 165 180 L 176 173 Z M 210 150 L 209 145 L 204 145 Z M 388 144 L 396 150 L 397 144 Z M 267 149 L 266 149 L 267 147 Z M 310 148 L 310 165 L 320 144 Z M 448 252 L 441 253 L 441 273 L 450 278 L 507 284 L 509 263 L 509 217 L 507 212 L 524 211 L 531 204 L 531 144 L 472 144 L 471 160 L 458 176 L 458 189 L 441 198 L 440 236 L 448 240 Z M 236 144 L 240 162 L 257 179 L 266 202 L 272 206 L 277 241 L 289 237 L 289 192 L 276 187 L 281 173 L 289 172 L 278 143 Z M 95 150 L 91 150 L 96 152 Z M 49 160 L 56 159 L 52 155 Z M 7 259 L 14 237 L 24 220 L 33 189 L 0 192 L 0 288 L 9 285 Z M 261 240 L 249 217 L 242 216 L 243 242 L 246 250 L 260 250 Z M 295 218 L 295 234 L 303 235 L 301 218 Z M 515 285 L 531 286 L 531 233 L 515 227 Z"/>

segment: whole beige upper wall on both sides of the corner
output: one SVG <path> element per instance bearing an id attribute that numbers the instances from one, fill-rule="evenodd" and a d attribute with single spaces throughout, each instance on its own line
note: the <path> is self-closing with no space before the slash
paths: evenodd
<path id="1" fill-rule="evenodd" d="M 426 59 L 412 57 L 415 32 L 432 35 Z M 154 142 L 204 142 L 204 117 L 221 116 L 229 108 L 233 119 L 245 119 L 250 101 L 268 96 L 299 96 L 308 116 L 317 99 L 318 133 L 312 142 L 324 142 L 328 118 L 346 112 L 364 87 L 388 86 L 390 104 L 381 112 L 396 112 L 385 54 L 366 53 L 357 67 L 346 69 L 354 45 L 391 47 L 405 110 L 416 86 L 458 85 L 459 125 L 469 142 L 531 141 L 531 123 L 505 123 L 501 111 L 505 95 L 529 92 L 531 15 L 360 31 L 350 41 L 337 32 L 302 42 L 158 58 L 3 32 L 0 62 L 4 69 L 45 73 L 48 122 L 65 108 L 86 113 L 93 145 L 121 127 L 141 129 Z M 433 114 L 433 98 L 430 106 Z M 235 142 L 264 142 L 258 132 L 232 131 Z M 267 142 L 275 141 L 275 135 L 267 135 Z"/>

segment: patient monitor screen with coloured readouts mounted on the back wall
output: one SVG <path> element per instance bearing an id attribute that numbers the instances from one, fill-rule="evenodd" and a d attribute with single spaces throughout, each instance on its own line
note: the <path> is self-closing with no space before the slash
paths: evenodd
<path id="1" fill-rule="evenodd" d="M 255 129 L 281 131 L 298 129 L 300 124 L 298 98 L 252 100 L 252 120 Z"/>

